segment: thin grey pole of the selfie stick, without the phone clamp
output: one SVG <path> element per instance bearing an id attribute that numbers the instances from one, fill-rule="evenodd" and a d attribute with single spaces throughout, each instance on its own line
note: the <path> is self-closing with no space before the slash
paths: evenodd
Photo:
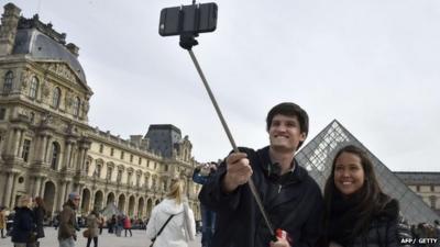
<path id="1" fill-rule="evenodd" d="M 194 65 L 196 66 L 197 71 L 200 75 L 201 81 L 204 81 L 205 88 L 206 88 L 206 90 L 207 90 L 207 92 L 209 94 L 209 98 L 211 99 L 213 108 L 216 109 L 217 115 L 220 119 L 221 125 L 223 125 L 224 132 L 228 135 L 229 142 L 231 143 L 234 153 L 240 153 L 239 148 L 235 145 L 235 141 L 233 139 L 232 134 L 229 131 L 228 124 L 224 121 L 223 114 L 221 114 L 220 108 L 219 108 L 219 105 L 217 103 L 217 100 L 216 100 L 216 98 L 215 98 L 215 96 L 213 96 L 213 93 L 211 91 L 211 88 L 209 87 L 208 81 L 205 78 L 204 71 L 201 71 L 201 68 L 200 68 L 199 63 L 197 61 L 196 55 L 194 55 L 193 49 L 190 49 L 190 48 L 188 49 L 188 52 L 189 52 L 189 56 L 191 56 L 191 59 L 194 61 Z M 261 201 L 260 194 L 256 191 L 254 181 L 252 179 L 249 179 L 248 184 L 249 184 L 249 188 L 251 189 L 251 192 L 252 192 L 252 194 L 253 194 L 253 197 L 254 197 L 254 199 L 256 201 L 256 204 L 258 205 L 260 212 L 262 213 L 263 218 L 264 218 L 268 229 L 271 231 L 271 235 L 275 236 L 275 231 L 274 231 L 274 228 L 273 228 L 273 226 L 271 224 L 271 221 L 268 220 L 266 211 L 264 210 L 263 202 Z"/>

